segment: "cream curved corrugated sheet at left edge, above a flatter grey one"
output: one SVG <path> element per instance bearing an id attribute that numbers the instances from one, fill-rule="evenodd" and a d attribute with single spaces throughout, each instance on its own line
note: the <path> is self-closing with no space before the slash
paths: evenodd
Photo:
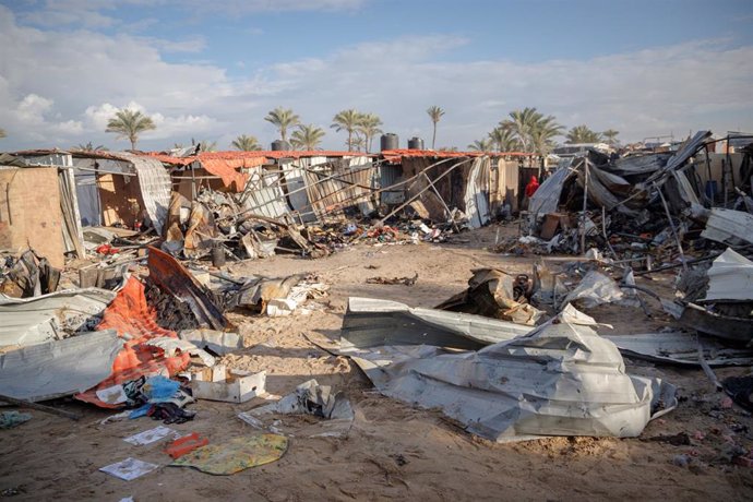
<path id="1" fill-rule="evenodd" d="M 99 315 L 115 296 L 113 291 L 99 288 L 56 291 L 32 298 L 0 295 L 0 346 L 62 339 Z"/>

